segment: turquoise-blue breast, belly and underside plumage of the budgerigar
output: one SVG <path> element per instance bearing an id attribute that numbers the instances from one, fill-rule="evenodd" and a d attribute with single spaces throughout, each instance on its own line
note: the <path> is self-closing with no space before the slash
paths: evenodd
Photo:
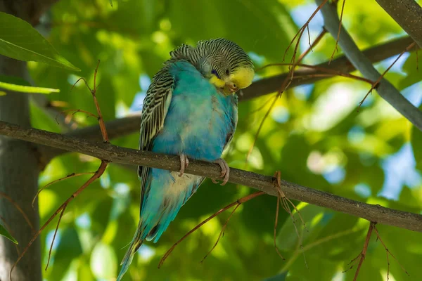
<path id="1" fill-rule="evenodd" d="M 223 96 L 189 63 L 174 63 L 169 71 L 175 79 L 172 100 L 151 150 L 184 153 L 190 159 L 219 159 L 236 128 L 236 96 Z M 149 185 L 141 207 L 141 238 L 157 242 L 202 181 L 200 176 L 179 177 L 177 172 L 151 169 L 146 182 L 141 183 Z"/>

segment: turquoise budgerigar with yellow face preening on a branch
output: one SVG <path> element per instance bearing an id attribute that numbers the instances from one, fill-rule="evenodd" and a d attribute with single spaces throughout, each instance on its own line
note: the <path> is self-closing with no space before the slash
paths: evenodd
<path id="1" fill-rule="evenodd" d="M 170 55 L 143 101 L 139 149 L 179 155 L 181 169 L 139 166 L 141 216 L 117 281 L 143 240 L 157 242 L 205 179 L 184 174 L 189 158 L 219 164 L 223 184 L 229 179 L 221 157 L 238 121 L 236 91 L 249 86 L 255 74 L 245 51 L 226 39 L 182 45 Z"/>

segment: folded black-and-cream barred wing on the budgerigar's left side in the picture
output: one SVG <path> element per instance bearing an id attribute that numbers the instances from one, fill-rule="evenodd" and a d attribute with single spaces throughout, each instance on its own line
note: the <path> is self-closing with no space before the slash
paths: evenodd
<path id="1" fill-rule="evenodd" d="M 168 67 L 164 67 L 155 74 L 153 82 L 146 92 L 143 100 L 141 115 L 141 136 L 139 138 L 140 150 L 151 150 L 155 136 L 164 126 L 164 120 L 172 100 L 174 90 L 174 77 L 170 74 Z M 141 209 L 143 196 L 148 194 L 149 185 L 146 183 L 151 168 L 138 166 L 138 176 L 141 179 Z"/>

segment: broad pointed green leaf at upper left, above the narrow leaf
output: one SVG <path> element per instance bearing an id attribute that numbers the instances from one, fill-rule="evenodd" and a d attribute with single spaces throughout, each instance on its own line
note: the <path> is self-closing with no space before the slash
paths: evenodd
<path id="1" fill-rule="evenodd" d="M 16 60 L 37 61 L 79 71 L 58 54 L 55 48 L 29 23 L 0 12 L 0 54 Z"/>

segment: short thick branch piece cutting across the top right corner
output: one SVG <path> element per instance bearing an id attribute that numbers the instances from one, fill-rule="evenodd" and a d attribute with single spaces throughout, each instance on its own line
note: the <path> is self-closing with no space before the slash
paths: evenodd
<path id="1" fill-rule="evenodd" d="M 402 29 L 422 47 L 422 8 L 415 0 L 376 0 Z"/>

